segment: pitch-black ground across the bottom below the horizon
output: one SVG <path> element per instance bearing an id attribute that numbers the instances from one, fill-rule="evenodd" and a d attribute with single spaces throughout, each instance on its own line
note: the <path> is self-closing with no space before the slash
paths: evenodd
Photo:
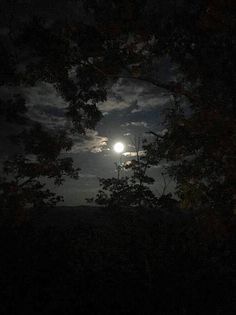
<path id="1" fill-rule="evenodd" d="M 1 228 L 1 314 L 235 314 L 235 223 L 61 207 Z"/>

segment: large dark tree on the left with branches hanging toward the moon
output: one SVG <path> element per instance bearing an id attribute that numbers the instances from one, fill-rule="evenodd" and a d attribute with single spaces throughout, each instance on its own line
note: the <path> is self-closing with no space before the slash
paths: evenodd
<path id="1" fill-rule="evenodd" d="M 97 104 L 106 100 L 107 85 L 115 78 L 104 73 L 117 75 L 124 65 L 138 56 L 127 43 L 128 34 L 115 39 L 110 37 L 109 31 L 102 32 L 98 25 L 68 22 L 56 17 L 52 21 L 32 17 L 21 22 L 19 18 L 16 19 L 17 28 L 13 27 L 12 14 L 9 14 L 6 19 L 8 33 L 0 38 L 1 119 L 14 128 L 21 125 L 15 128 L 19 154 L 6 161 L 3 167 L 1 202 L 4 207 L 7 204 L 18 207 L 18 192 L 22 191 L 23 182 L 24 186 L 27 183 L 28 191 L 24 193 L 27 198 L 22 195 L 21 199 L 26 200 L 20 202 L 21 207 L 29 200 L 32 203 L 32 199 L 33 204 L 37 198 L 38 203 L 56 200 L 50 199 L 54 198 L 52 192 L 42 194 L 44 185 L 39 183 L 43 178 L 54 178 L 56 184 L 61 184 L 63 176 L 77 177 L 71 160 L 60 158 L 60 152 L 72 146 L 67 137 L 70 133 L 84 134 L 87 129 L 95 127 L 102 117 Z M 32 127 L 35 122 L 27 116 L 24 88 L 30 89 L 40 82 L 52 85 L 67 104 L 65 119 L 70 124 L 66 131 L 62 132 L 59 126 L 56 130 L 38 124 Z M 19 91 L 19 95 L 12 97 L 9 92 L 6 98 L 4 91 L 8 89 Z M 31 161 L 32 155 L 34 162 Z M 7 188 L 11 187 L 9 183 L 19 188 L 14 190 L 17 191 L 14 197 L 13 190 Z M 11 191 L 10 199 L 15 202 L 8 202 L 6 191 Z M 37 195 L 37 198 L 30 195 Z"/>

